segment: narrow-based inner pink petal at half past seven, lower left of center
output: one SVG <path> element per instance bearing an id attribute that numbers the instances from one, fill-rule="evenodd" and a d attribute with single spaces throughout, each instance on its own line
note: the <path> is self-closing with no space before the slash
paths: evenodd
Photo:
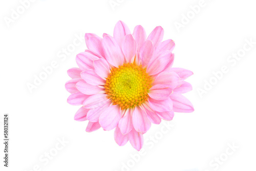
<path id="1" fill-rule="evenodd" d="M 109 100 L 105 104 L 98 106 L 97 108 L 91 109 L 87 114 L 87 119 L 91 122 L 98 122 L 99 116 L 107 109 L 109 108 L 111 104 L 111 101 Z"/>

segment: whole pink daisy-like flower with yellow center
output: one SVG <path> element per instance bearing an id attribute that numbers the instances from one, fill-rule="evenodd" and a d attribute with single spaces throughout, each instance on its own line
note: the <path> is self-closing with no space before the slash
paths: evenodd
<path id="1" fill-rule="evenodd" d="M 115 129 L 118 145 L 130 141 L 139 151 L 151 123 L 194 111 L 182 95 L 192 90 L 185 79 L 193 73 L 172 68 L 175 43 L 162 41 L 163 34 L 160 26 L 147 37 L 142 26 L 132 34 L 121 21 L 114 36 L 86 34 L 88 50 L 76 56 L 79 68 L 68 70 L 66 89 L 68 103 L 82 105 L 75 120 L 89 120 L 87 132 Z"/>

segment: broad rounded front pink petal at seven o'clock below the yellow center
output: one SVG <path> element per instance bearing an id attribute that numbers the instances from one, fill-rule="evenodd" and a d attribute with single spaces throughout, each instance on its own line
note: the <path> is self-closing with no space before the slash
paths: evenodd
<path id="1" fill-rule="evenodd" d="M 117 126 L 120 118 L 121 113 L 119 105 L 112 105 L 105 109 L 100 115 L 99 123 L 104 130 L 110 131 Z"/>

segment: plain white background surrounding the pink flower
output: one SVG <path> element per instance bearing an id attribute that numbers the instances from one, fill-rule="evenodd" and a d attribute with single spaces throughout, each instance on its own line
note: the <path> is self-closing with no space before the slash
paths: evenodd
<path id="1" fill-rule="evenodd" d="M 227 61 L 232 53 L 243 49 L 245 39 L 256 41 L 254 2 L 205 0 L 205 6 L 180 32 L 175 22 L 181 23 L 182 15 L 199 0 L 119 2 L 113 10 L 109 0 L 37 0 L 8 27 L 4 18 L 11 18 L 12 9 L 17 11 L 20 2 L 1 1 L 1 135 L 3 115 L 10 115 L 10 163 L 8 168 L 3 166 L 1 143 L 1 170 L 33 170 L 39 165 L 38 170 L 119 171 L 125 170 L 123 163 L 127 162 L 130 166 L 126 170 L 255 170 L 256 45 L 236 64 Z M 70 79 L 67 70 L 76 67 L 76 54 L 86 49 L 85 42 L 65 60 L 57 55 L 73 44 L 75 35 L 113 35 L 118 20 L 131 31 L 142 25 L 147 35 L 162 26 L 164 39 L 176 42 L 174 67 L 194 72 L 188 79 L 194 90 L 185 96 L 194 104 L 195 112 L 176 113 L 172 130 L 158 142 L 144 144 L 144 155 L 136 161 L 131 155 L 138 156 L 138 152 L 130 143 L 118 146 L 114 131 L 87 133 L 87 121 L 73 119 L 79 106 L 67 103 L 65 82 Z M 33 83 L 34 75 L 44 72 L 42 67 L 52 61 L 57 61 L 58 67 L 30 93 L 27 83 Z M 222 66 L 228 73 L 200 97 L 198 89 L 203 89 L 204 80 L 214 79 L 212 72 Z M 153 125 L 144 139 L 161 133 L 162 126 Z M 68 141 L 66 146 L 49 163 L 41 162 L 39 158 L 54 151 L 62 137 Z M 238 148 L 216 169 L 209 163 L 225 157 L 228 143 Z"/>

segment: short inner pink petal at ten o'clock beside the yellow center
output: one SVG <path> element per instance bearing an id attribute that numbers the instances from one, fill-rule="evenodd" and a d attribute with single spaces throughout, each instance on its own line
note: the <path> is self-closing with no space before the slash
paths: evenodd
<path id="1" fill-rule="evenodd" d="M 94 60 L 93 65 L 94 65 L 94 71 L 98 76 L 100 76 L 104 80 L 108 78 L 110 74 L 110 66 L 105 59 L 101 58 L 98 60 Z"/>

